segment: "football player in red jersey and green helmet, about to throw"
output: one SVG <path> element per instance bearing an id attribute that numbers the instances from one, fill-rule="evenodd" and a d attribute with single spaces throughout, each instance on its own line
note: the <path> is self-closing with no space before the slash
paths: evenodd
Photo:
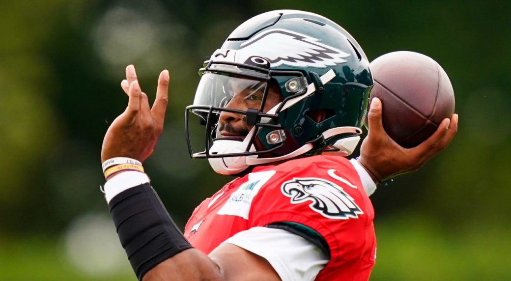
<path id="1" fill-rule="evenodd" d="M 190 154 L 236 177 L 195 209 L 184 233 L 142 168 L 162 132 L 169 73 L 159 76 L 152 108 L 132 65 L 121 83 L 128 107 L 108 129 L 101 157 L 105 196 L 137 277 L 367 280 L 376 254 L 368 195 L 446 147 L 457 115 L 421 145 L 397 145 L 378 99 L 367 114 L 373 78 L 359 44 L 302 11 L 244 22 L 200 75 L 185 120 L 187 134 L 192 122 L 204 126 L 204 149 L 194 151 L 189 136 Z M 366 115 L 360 158 L 340 157 L 359 143 Z"/>

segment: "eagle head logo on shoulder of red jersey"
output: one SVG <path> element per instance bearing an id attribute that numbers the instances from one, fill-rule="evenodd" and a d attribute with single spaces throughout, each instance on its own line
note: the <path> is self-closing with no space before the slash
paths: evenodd
<path id="1" fill-rule="evenodd" d="M 362 210 L 337 184 L 320 178 L 294 178 L 282 184 L 282 193 L 292 204 L 312 201 L 309 206 L 330 219 L 358 218 Z"/>

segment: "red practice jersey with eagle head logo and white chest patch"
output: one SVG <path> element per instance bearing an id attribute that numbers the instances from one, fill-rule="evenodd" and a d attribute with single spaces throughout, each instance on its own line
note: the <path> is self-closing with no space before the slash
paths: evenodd
<path id="1" fill-rule="evenodd" d="M 327 241 L 330 261 L 316 280 L 367 280 L 375 263 L 374 209 L 349 160 L 317 155 L 258 166 L 204 200 L 184 228 L 210 253 L 236 233 L 295 222 Z"/>

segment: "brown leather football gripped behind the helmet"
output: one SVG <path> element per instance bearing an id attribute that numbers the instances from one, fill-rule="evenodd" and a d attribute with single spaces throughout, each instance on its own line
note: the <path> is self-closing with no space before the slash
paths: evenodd
<path id="1" fill-rule="evenodd" d="M 444 69 L 415 52 L 392 52 L 370 63 L 370 98 L 382 101 L 383 128 L 405 148 L 431 136 L 454 113 L 454 90 Z"/>

